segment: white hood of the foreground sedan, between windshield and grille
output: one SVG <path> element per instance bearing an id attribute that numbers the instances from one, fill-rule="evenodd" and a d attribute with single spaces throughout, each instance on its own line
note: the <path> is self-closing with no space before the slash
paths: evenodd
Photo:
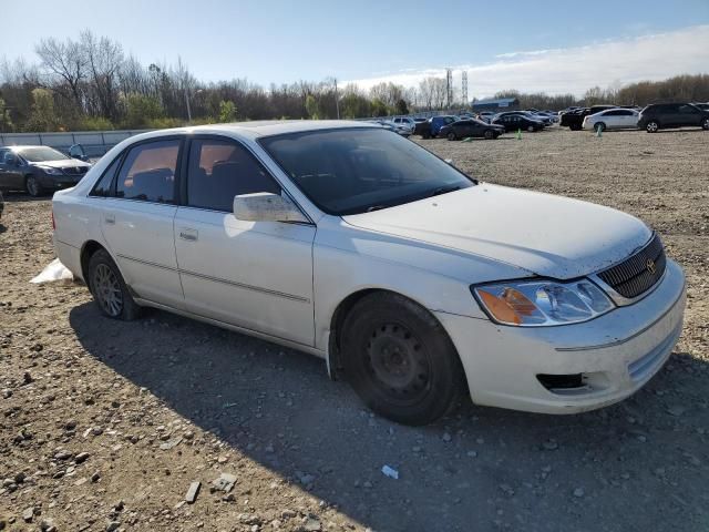
<path id="1" fill-rule="evenodd" d="M 605 269 L 651 236 L 609 207 L 487 183 L 343 219 L 557 279 Z"/>

